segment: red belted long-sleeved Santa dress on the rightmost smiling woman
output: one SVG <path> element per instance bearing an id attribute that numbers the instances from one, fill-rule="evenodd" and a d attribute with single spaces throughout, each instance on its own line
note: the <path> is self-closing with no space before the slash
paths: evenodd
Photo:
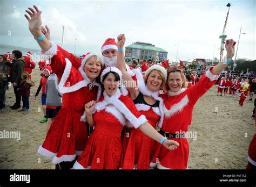
<path id="1" fill-rule="evenodd" d="M 159 124 L 162 132 L 178 135 L 186 133 L 197 100 L 218 80 L 219 75 L 214 75 L 212 68 L 209 68 L 193 87 L 182 88 L 178 92 L 169 91 L 162 95 L 165 113 L 163 125 Z M 180 146 L 175 150 L 168 150 L 157 142 L 152 164 L 157 165 L 159 169 L 186 169 L 189 154 L 187 139 L 178 136 L 171 139 L 177 141 Z"/>

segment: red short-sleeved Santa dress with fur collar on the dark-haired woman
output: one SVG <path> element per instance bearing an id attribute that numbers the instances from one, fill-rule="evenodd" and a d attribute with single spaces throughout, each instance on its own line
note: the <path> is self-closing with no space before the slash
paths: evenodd
<path id="1" fill-rule="evenodd" d="M 147 120 L 136 109 L 130 96 L 121 95 L 119 90 L 113 96 L 103 92 L 95 108 L 95 130 L 73 169 L 119 169 L 122 154 L 121 133 L 126 120 L 135 128 Z"/>

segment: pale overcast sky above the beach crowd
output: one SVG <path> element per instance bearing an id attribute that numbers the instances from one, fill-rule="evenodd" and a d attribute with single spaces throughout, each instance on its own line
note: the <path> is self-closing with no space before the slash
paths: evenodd
<path id="1" fill-rule="evenodd" d="M 126 34 L 126 46 L 149 42 L 178 59 L 219 58 L 220 39 L 232 3 L 226 35 L 238 41 L 237 58 L 256 59 L 256 1 L 0 1 L 0 44 L 38 49 L 28 30 L 25 10 L 38 5 L 43 25 L 51 29 L 51 39 L 61 45 L 65 25 L 64 48 L 76 54 L 100 53 L 106 38 Z M 214 46 L 215 52 L 214 52 Z M 235 48 L 237 49 L 237 48 Z"/>

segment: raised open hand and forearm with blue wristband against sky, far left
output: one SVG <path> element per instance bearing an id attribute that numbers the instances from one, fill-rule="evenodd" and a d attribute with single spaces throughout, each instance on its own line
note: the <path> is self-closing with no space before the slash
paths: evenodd
<path id="1" fill-rule="evenodd" d="M 35 10 L 34 10 L 34 9 Z M 43 33 L 41 31 L 42 26 L 42 20 L 41 20 L 41 14 L 42 11 L 39 11 L 36 5 L 33 5 L 33 8 L 29 8 L 29 10 L 26 10 L 26 12 L 29 14 L 24 15 L 26 19 L 29 21 L 29 31 L 33 35 L 35 39 L 41 38 L 43 36 Z M 48 49 L 51 48 L 50 41 L 44 37 L 41 41 L 37 41 L 38 45 L 41 47 L 43 52 L 48 51 Z"/>

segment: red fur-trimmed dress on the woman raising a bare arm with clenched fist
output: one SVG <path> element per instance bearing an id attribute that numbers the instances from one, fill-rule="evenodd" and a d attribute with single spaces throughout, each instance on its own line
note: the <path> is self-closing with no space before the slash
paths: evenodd
<path id="1" fill-rule="evenodd" d="M 164 116 L 163 99 L 159 97 L 159 91 L 151 92 L 145 85 L 142 73 L 138 69 L 134 70 L 138 80 L 139 95 L 133 100 L 136 108 L 142 113 L 148 122 L 156 128 L 161 116 Z M 143 96 L 151 96 L 157 100 L 153 105 L 147 104 Z M 162 115 L 161 115 L 162 114 Z M 163 118 L 162 118 L 163 120 Z M 120 169 L 150 169 L 150 162 L 154 155 L 156 141 L 149 138 L 138 128 L 133 128 L 126 124 L 123 140 L 123 153 Z"/>

